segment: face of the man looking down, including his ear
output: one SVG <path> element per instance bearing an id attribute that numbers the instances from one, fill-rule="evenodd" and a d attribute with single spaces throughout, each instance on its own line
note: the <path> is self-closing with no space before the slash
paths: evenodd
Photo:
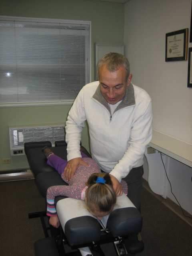
<path id="1" fill-rule="evenodd" d="M 126 70 L 120 66 L 115 72 L 110 72 L 106 65 L 100 67 L 99 82 L 102 96 L 109 104 L 116 104 L 126 94 L 126 88 L 130 86 L 132 74 L 129 75 L 126 81 Z"/>

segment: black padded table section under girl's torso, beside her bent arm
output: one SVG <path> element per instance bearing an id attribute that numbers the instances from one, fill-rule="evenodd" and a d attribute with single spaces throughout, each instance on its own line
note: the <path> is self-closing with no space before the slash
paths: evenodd
<path id="1" fill-rule="evenodd" d="M 68 185 L 57 171 L 54 172 L 42 172 L 36 176 L 36 184 L 43 197 L 46 198 L 47 190 L 51 186 L 56 185 Z M 60 196 L 59 196 L 60 197 Z M 66 197 L 61 197 L 66 198 Z"/>

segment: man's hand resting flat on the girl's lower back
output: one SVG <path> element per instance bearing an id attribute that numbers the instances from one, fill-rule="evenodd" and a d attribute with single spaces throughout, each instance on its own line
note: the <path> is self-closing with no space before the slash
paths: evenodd
<path id="1" fill-rule="evenodd" d="M 84 162 L 80 157 L 74 158 L 70 160 L 65 169 L 64 169 L 64 177 L 66 177 L 66 181 L 69 182 L 71 178 L 74 176 L 77 168 L 81 165 L 89 166 L 86 162 Z"/>

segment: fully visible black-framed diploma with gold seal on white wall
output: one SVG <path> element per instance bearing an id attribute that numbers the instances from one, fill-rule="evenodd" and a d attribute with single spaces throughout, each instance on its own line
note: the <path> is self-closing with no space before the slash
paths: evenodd
<path id="1" fill-rule="evenodd" d="M 166 34 L 165 61 L 187 60 L 188 28 Z"/>

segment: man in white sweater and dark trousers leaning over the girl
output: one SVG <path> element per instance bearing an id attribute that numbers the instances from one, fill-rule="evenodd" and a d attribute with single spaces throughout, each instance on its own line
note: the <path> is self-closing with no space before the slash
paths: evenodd
<path id="1" fill-rule="evenodd" d="M 99 81 L 87 84 L 78 94 L 66 122 L 68 164 L 64 175 L 70 180 L 80 165 L 80 140 L 88 122 L 92 158 L 110 173 L 117 196 L 123 178 L 128 198 L 140 210 L 143 157 L 152 138 L 150 96 L 131 83 L 127 58 L 110 53 L 98 63 Z"/>

